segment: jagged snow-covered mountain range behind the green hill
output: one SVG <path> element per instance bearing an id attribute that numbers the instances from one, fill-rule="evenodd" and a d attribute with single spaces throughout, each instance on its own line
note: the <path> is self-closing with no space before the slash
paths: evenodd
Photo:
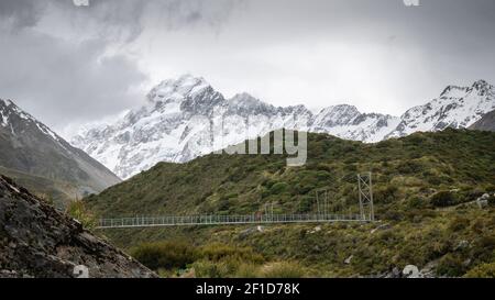
<path id="1" fill-rule="evenodd" d="M 282 127 L 366 143 L 466 127 L 495 108 L 493 95 L 492 86 L 477 81 L 470 88 L 449 87 L 440 98 L 400 118 L 361 113 L 346 104 L 312 113 L 304 105 L 277 108 L 248 93 L 226 99 L 205 79 L 185 75 L 153 88 L 141 109 L 113 124 L 85 130 L 72 142 L 129 178 L 158 162 L 188 162 Z"/>

